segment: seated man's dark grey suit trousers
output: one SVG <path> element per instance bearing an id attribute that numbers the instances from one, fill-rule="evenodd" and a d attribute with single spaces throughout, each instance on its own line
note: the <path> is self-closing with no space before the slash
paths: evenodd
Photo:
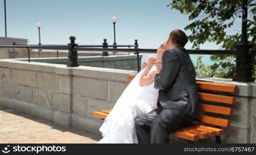
<path id="1" fill-rule="evenodd" d="M 158 107 L 135 119 L 139 144 L 169 143 L 169 135 L 189 125 L 192 117 L 171 108 Z"/>

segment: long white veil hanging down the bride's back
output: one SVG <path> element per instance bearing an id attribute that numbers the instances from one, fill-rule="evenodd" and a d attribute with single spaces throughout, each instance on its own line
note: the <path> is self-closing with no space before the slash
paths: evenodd
<path id="1" fill-rule="evenodd" d="M 117 100 L 115 106 L 113 107 L 111 113 L 106 117 L 104 123 L 100 128 L 102 136 L 104 137 L 107 133 L 112 132 L 111 130 L 115 127 L 115 124 L 125 121 L 127 115 L 133 115 L 134 111 L 129 111 L 129 106 L 133 106 L 132 103 L 141 94 L 142 87 L 139 85 L 139 81 L 145 69 L 141 70 L 129 83 L 129 85 L 124 90 L 123 94 Z M 119 117 L 122 118 L 119 118 Z M 111 122 L 110 122 L 111 121 Z M 110 122 L 110 123 L 109 123 Z M 108 125 L 109 124 L 109 125 Z"/>

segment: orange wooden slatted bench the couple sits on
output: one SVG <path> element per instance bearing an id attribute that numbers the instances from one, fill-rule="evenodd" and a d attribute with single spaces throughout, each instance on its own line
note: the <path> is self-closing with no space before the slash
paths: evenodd
<path id="1" fill-rule="evenodd" d="M 136 75 L 130 74 L 128 80 L 131 81 Z M 235 85 L 209 83 L 197 81 L 200 121 L 192 122 L 190 126 L 181 128 L 171 133 L 172 136 L 182 138 L 188 143 L 193 143 L 199 139 L 215 137 L 216 143 L 221 143 L 223 128 L 230 127 L 230 117 L 233 114 L 233 105 L 236 98 L 232 94 L 236 91 Z M 93 112 L 93 116 L 105 119 L 111 112 L 102 110 Z"/>

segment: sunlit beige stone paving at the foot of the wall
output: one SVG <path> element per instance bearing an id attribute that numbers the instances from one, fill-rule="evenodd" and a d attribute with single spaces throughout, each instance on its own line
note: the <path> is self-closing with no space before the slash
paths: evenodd
<path id="1" fill-rule="evenodd" d="M 0 143 L 96 143 L 100 138 L 0 106 Z"/>

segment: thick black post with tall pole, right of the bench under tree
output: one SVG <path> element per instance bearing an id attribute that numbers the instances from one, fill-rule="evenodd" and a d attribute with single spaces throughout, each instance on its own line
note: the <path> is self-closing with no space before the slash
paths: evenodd
<path id="1" fill-rule="evenodd" d="M 242 37 L 240 43 L 236 44 L 236 76 L 233 81 L 254 82 L 255 78 L 252 77 L 253 57 L 250 54 L 252 44 L 248 43 L 247 40 L 247 3 L 248 0 L 242 1 L 242 10 L 244 10 L 242 14 Z"/>

